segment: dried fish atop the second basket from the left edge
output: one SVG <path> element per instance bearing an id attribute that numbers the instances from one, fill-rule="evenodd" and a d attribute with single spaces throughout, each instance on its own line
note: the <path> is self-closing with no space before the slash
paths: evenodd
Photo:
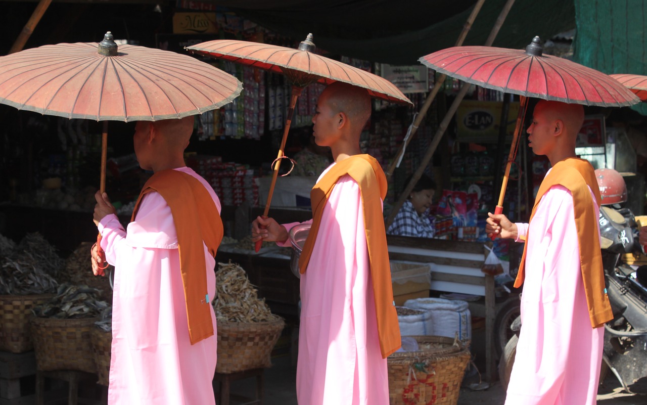
<path id="1" fill-rule="evenodd" d="M 109 306 L 97 296 L 98 290 L 87 285 L 63 283 L 58 286 L 54 298 L 32 308 L 32 312 L 39 318 L 93 318 Z"/>

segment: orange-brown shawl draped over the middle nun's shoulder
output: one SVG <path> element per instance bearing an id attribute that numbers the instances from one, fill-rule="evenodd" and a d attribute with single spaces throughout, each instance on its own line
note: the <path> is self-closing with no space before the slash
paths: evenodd
<path id="1" fill-rule="evenodd" d="M 386 231 L 382 217 L 382 200 L 386 196 L 387 182 L 384 171 L 377 160 L 369 155 L 354 155 L 335 164 L 323 178 L 314 185 L 310 193 L 313 207 L 313 224 L 299 258 L 300 272 L 305 273 L 321 223 L 323 207 L 333 191 L 334 185 L 344 175 L 351 176 L 359 185 L 364 210 L 364 228 L 368 246 L 371 279 L 375 294 L 377 331 L 380 351 L 386 358 L 400 347 L 400 327 L 393 301 L 389 251 L 386 246 Z"/>

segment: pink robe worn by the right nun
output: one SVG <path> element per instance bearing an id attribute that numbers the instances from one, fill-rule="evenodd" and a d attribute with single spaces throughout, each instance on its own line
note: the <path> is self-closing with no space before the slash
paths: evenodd
<path id="1" fill-rule="evenodd" d="M 596 218 L 598 212 L 596 205 Z M 517 227 L 520 237 L 530 234 L 521 333 L 505 404 L 593 405 L 604 328 L 591 328 L 589 320 L 571 192 L 553 186 L 531 226 Z M 591 237 L 600 237 L 599 230 Z"/>

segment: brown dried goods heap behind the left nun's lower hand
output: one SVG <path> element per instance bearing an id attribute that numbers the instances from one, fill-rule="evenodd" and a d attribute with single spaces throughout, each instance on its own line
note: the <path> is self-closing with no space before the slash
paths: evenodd
<path id="1" fill-rule="evenodd" d="M 98 294 L 102 300 L 111 302 L 113 290 L 110 287 L 109 276 L 94 276 L 92 272 L 91 248 L 91 242 L 81 243 L 65 261 L 65 272 L 61 274 L 60 279 L 72 284 L 89 285 L 99 290 Z M 114 267 L 109 266 L 105 269 L 105 274 L 110 274 L 113 269 Z"/>

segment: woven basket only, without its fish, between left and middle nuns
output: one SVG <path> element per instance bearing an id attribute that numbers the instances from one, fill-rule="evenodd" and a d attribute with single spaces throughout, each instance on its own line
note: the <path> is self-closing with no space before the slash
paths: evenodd
<path id="1" fill-rule="evenodd" d="M 269 322 L 217 320 L 218 361 L 215 372 L 229 374 L 272 366 L 272 349 L 284 325 L 279 316 Z"/>

